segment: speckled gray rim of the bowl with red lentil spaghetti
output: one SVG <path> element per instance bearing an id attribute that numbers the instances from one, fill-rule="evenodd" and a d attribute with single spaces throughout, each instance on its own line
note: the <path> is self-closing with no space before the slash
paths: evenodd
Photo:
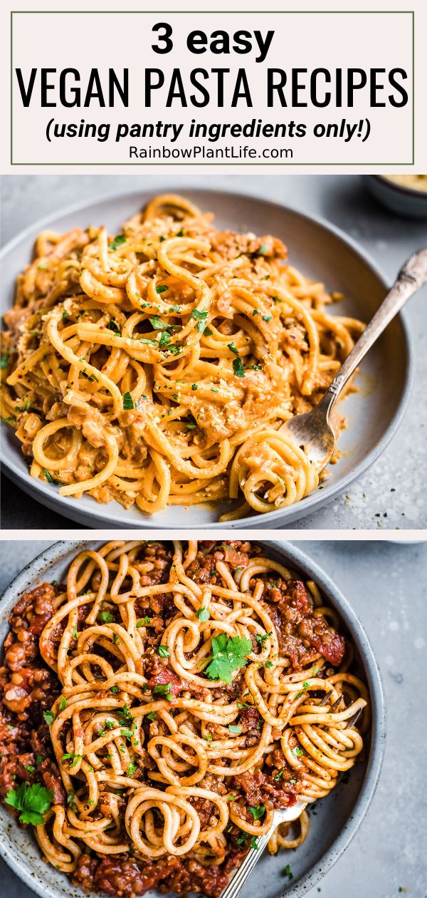
<path id="1" fill-rule="evenodd" d="M 315 867 L 311 867 L 309 871 L 301 876 L 301 879 L 281 892 L 278 898 L 302 898 L 309 888 L 316 885 L 327 871 L 331 869 L 338 858 L 344 853 L 353 836 L 358 832 L 362 821 L 368 813 L 370 803 L 374 797 L 375 791 L 379 783 L 379 775 L 384 760 L 387 732 L 387 712 L 385 704 L 384 688 L 382 684 L 379 666 L 375 658 L 373 649 L 370 645 L 362 622 L 359 620 L 356 612 L 353 611 L 352 605 L 344 597 L 341 590 L 335 585 L 334 581 L 327 573 L 320 568 L 318 562 L 311 559 L 299 546 L 287 540 L 251 540 L 257 545 L 261 545 L 267 552 L 271 550 L 272 554 L 278 555 L 283 559 L 285 564 L 289 564 L 292 568 L 300 570 L 304 577 L 313 579 L 319 586 L 320 591 L 326 595 L 327 600 L 342 616 L 344 625 L 350 630 L 352 637 L 356 640 L 359 655 L 363 665 L 363 671 L 367 679 L 368 689 L 370 691 L 371 701 L 371 730 L 370 730 L 370 751 L 366 761 L 365 775 L 362 780 L 361 789 L 356 797 L 353 809 L 349 814 L 344 826 L 336 837 L 335 841 L 330 845 L 321 860 Z M 65 558 L 69 552 L 73 550 L 84 550 L 93 543 L 102 543 L 102 540 L 61 540 L 52 543 L 36 558 L 32 559 L 22 571 L 13 578 L 12 583 L 6 586 L 1 596 L 2 612 L 6 614 L 10 612 L 19 594 L 28 589 L 35 580 L 40 577 L 57 561 Z M 4 614 L 2 614 L 2 618 Z M 14 821 L 13 821 L 14 823 Z M 14 823 L 16 825 L 16 823 Z M 30 835 L 30 838 L 33 838 Z M 37 880 L 33 880 L 30 876 L 30 870 L 22 865 L 19 850 L 16 856 L 13 851 L 9 850 L 4 843 L 2 832 L 0 831 L 0 857 L 4 859 L 6 864 L 11 867 L 13 873 L 18 876 L 22 882 L 27 885 L 40 898 L 58 898 L 57 889 L 54 886 L 43 885 Z M 102 893 L 92 893 L 93 895 L 102 895 Z M 158 894 L 158 893 L 157 893 Z"/>

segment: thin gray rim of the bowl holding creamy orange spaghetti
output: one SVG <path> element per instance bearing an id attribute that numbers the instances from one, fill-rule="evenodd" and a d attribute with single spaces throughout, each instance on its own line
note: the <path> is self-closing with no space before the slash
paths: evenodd
<path id="1" fill-rule="evenodd" d="M 171 192 L 173 189 L 173 185 L 170 186 L 168 192 Z M 159 188 L 160 190 L 160 188 Z M 48 216 L 44 216 L 39 221 L 29 225 L 27 228 L 24 228 L 23 231 L 17 233 L 13 239 L 7 242 L 3 248 L 0 249 L 0 260 L 7 255 L 9 251 L 12 251 L 19 243 L 29 238 L 31 235 L 35 236 L 39 233 L 39 230 L 43 230 L 43 228 L 47 227 L 47 225 L 52 223 L 52 219 L 64 217 L 64 216 L 72 216 L 77 215 L 78 213 L 83 213 L 85 209 L 88 207 L 92 207 L 98 204 L 109 204 L 117 202 L 118 200 L 127 200 L 135 195 L 143 198 L 146 193 L 150 191 L 147 189 L 133 189 L 126 191 L 115 191 L 109 195 L 105 195 L 102 198 L 93 198 L 93 200 L 86 200 L 84 203 L 74 203 L 62 211 L 57 213 L 48 214 Z M 373 272 L 373 274 L 378 277 L 379 282 L 382 286 L 384 286 L 385 290 L 388 290 L 388 278 L 385 276 L 382 269 L 380 269 L 379 265 L 376 261 L 374 261 L 370 253 L 365 251 L 364 247 L 360 245 L 357 241 L 353 240 L 353 237 L 350 234 L 345 233 L 340 227 L 334 225 L 332 222 L 327 221 L 323 216 L 318 216 L 309 212 L 301 212 L 299 209 L 296 209 L 292 206 L 286 206 L 284 203 L 276 203 L 274 200 L 266 199 L 263 197 L 254 196 L 251 193 L 246 193 L 244 191 L 236 191 L 236 190 L 223 190 L 223 189 L 214 189 L 211 187 L 203 188 L 203 187 L 184 187 L 181 186 L 179 188 L 180 194 L 199 194 L 210 193 L 214 196 L 218 196 L 221 194 L 222 196 L 226 196 L 228 198 L 245 198 L 249 201 L 255 203 L 261 203 L 265 205 L 272 205 L 278 207 L 279 209 L 283 209 L 284 213 L 291 214 L 293 216 L 299 216 L 301 219 L 315 224 L 318 227 L 326 230 L 329 233 L 333 233 L 335 238 L 339 241 L 344 242 L 347 247 L 349 247 L 360 259 L 362 262 Z M 361 462 L 359 462 L 352 471 L 348 471 L 348 473 L 334 485 L 330 485 L 325 490 L 314 490 L 309 494 L 308 497 L 301 500 L 301 502 L 297 503 L 294 506 L 286 506 L 284 508 L 277 508 L 274 511 L 266 512 L 265 514 L 256 514 L 249 515 L 248 517 L 240 517 L 235 518 L 232 521 L 221 522 L 221 521 L 210 521 L 205 522 L 204 524 L 197 524 L 197 528 L 201 530 L 220 530 L 225 527 L 225 529 L 236 529 L 236 528 L 254 528 L 259 525 L 266 527 L 272 526 L 274 527 L 274 522 L 280 520 L 280 525 L 292 524 L 292 522 L 300 521 L 301 518 L 309 515 L 310 513 L 314 513 L 319 510 L 322 506 L 327 506 L 327 504 L 337 495 L 344 493 L 345 489 L 348 489 L 351 483 L 354 480 L 358 480 L 362 474 L 370 468 L 370 465 L 377 461 L 379 456 L 384 452 L 384 450 L 388 447 L 389 443 L 396 436 L 396 432 L 398 427 L 401 424 L 402 418 L 405 414 L 405 409 L 407 403 L 409 401 L 409 396 L 411 392 L 411 386 L 414 378 L 414 350 L 412 346 L 412 337 L 410 334 L 410 330 L 408 328 L 405 312 L 399 312 L 396 315 L 396 319 L 400 324 L 402 329 L 403 341 L 404 341 L 404 349 L 405 349 L 405 376 L 402 383 L 402 392 L 398 404 L 396 406 L 395 412 L 391 421 L 389 423 L 388 429 L 382 439 L 379 440 L 378 443 L 372 446 L 370 452 L 367 453 Z M 1 428 L 0 428 L 1 429 Z M 19 447 L 16 447 L 19 451 Z M 13 481 L 17 486 L 20 487 L 25 493 L 35 498 L 37 502 L 41 505 L 48 507 L 50 510 L 54 510 L 59 515 L 63 515 L 65 517 L 71 518 L 71 520 L 76 521 L 78 523 L 83 523 L 85 526 L 91 527 L 92 529 L 101 529 L 102 527 L 110 527 L 111 515 L 109 515 L 109 504 L 107 506 L 99 506 L 95 500 L 93 500 L 93 512 L 86 510 L 85 508 L 81 508 L 78 504 L 74 504 L 69 497 L 60 496 L 56 489 L 51 489 L 49 484 L 44 484 L 41 480 L 34 480 L 30 478 L 30 473 L 24 473 L 21 470 L 21 466 L 18 462 L 17 456 L 15 459 L 15 453 L 13 453 L 13 457 L 5 457 L 3 453 L 2 457 L 2 470 L 6 474 L 6 476 Z M 20 458 L 20 461 L 21 458 Z M 78 502 L 78 500 L 77 500 Z M 165 523 L 157 523 L 155 520 L 156 515 L 148 515 L 144 516 L 141 514 L 141 520 L 133 521 L 126 518 L 126 509 L 114 508 L 114 518 L 112 525 L 120 526 L 128 529 L 153 529 L 153 530 L 174 530 L 174 529 L 185 529 L 182 524 L 171 524 L 170 522 Z"/>

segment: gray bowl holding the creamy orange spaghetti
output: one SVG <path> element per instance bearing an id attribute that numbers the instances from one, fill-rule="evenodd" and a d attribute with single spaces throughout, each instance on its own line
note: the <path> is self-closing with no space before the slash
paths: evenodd
<path id="1" fill-rule="evenodd" d="M 168 192 L 173 189 L 168 185 Z M 374 262 L 350 237 L 315 216 L 302 215 L 295 209 L 266 200 L 226 193 L 220 190 L 180 189 L 198 207 L 211 210 L 219 228 L 239 231 L 273 233 L 287 245 L 292 265 L 314 280 L 321 280 L 329 291 L 344 294 L 344 301 L 335 309 L 337 314 L 350 315 L 370 321 L 386 294 L 386 281 Z M 16 276 L 30 261 L 35 237 L 42 228 L 64 232 L 81 225 L 104 224 L 116 233 L 136 209 L 144 207 L 151 193 L 130 193 L 109 197 L 84 207 L 68 209 L 50 216 L 21 233 L 6 247 L 2 260 L 2 308 L 10 308 Z M 396 259 L 396 274 L 403 259 Z M 2 425 L 2 458 L 4 472 L 30 496 L 53 511 L 87 527 L 129 527 L 180 530 L 187 527 L 223 530 L 231 528 L 279 527 L 290 524 L 320 506 L 326 505 L 338 493 L 375 462 L 396 433 L 408 397 L 411 380 L 411 357 L 405 329 L 405 319 L 397 315 L 377 343 L 363 359 L 357 375 L 358 392 L 343 401 L 342 409 L 347 427 L 340 436 L 340 457 L 330 466 L 327 479 L 320 489 L 296 505 L 276 509 L 266 515 L 249 515 L 222 524 L 223 511 L 230 504 L 213 506 L 169 506 L 155 515 L 146 515 L 136 506 L 125 509 L 118 502 L 100 505 L 91 496 L 81 499 L 60 496 L 58 487 L 30 477 L 21 452 L 21 444 L 7 425 Z M 391 484 L 390 484 L 391 485 Z M 237 506 L 241 505 L 241 501 Z M 331 514 L 331 526 L 333 515 Z"/>

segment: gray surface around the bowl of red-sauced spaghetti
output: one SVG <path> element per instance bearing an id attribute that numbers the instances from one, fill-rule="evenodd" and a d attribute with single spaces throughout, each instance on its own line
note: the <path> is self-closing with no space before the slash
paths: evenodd
<path id="1" fill-rule="evenodd" d="M 1 542 L 0 590 L 48 545 Z M 359 614 L 379 662 L 388 709 L 386 758 L 368 815 L 344 856 L 307 898 L 426 898 L 425 717 L 419 699 L 425 681 L 427 542 L 300 546 Z M 1 861 L 0 883 L 5 898 L 31 898 Z"/>

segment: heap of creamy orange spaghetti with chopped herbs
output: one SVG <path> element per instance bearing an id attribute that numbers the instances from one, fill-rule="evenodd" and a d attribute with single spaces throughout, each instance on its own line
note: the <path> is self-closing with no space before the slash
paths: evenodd
<path id="1" fill-rule="evenodd" d="M 61 495 L 148 514 L 243 498 L 227 520 L 317 487 L 283 425 L 318 403 L 362 324 L 327 314 L 281 241 L 211 217 L 166 195 L 114 239 L 39 235 L 5 315 L 2 417 Z"/>

